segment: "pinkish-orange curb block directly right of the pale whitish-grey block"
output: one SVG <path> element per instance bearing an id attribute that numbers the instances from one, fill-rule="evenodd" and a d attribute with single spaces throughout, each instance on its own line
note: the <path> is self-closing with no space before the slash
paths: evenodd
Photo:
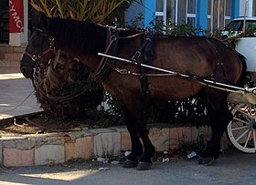
<path id="1" fill-rule="evenodd" d="M 65 161 L 69 159 L 90 159 L 93 156 L 94 138 L 92 136 L 75 139 L 65 143 Z"/>

